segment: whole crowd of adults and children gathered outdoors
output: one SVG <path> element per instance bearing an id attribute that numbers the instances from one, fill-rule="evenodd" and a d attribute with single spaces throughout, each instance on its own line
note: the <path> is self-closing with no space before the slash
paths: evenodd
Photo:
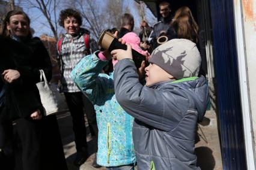
<path id="1" fill-rule="evenodd" d="M 162 19 L 152 28 L 143 20 L 139 35 L 133 16 L 123 14 L 121 28 L 107 31 L 127 50 L 112 51 L 91 49 L 79 11 L 59 14 L 66 34 L 56 44 L 58 90 L 72 116 L 74 165 L 88 158 L 86 114 L 97 141 L 95 168 L 200 169 L 195 136 L 209 92 L 200 74 L 198 26 L 188 7 L 172 16 L 171 5 L 161 2 L 159 11 Z M 47 81 L 52 77 L 50 57 L 29 25 L 26 13 L 9 11 L 0 35 L 0 166 L 67 169 L 56 115 L 44 116 L 36 86 L 40 69 Z M 144 57 L 139 66 L 132 50 Z"/>

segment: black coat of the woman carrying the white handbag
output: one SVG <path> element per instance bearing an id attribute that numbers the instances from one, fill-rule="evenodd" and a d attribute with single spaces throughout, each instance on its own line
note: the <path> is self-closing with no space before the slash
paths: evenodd
<path id="1" fill-rule="evenodd" d="M 5 111 L 1 120 L 15 120 L 29 117 L 34 111 L 43 111 L 40 95 L 35 85 L 40 81 L 39 69 L 43 69 L 46 78 L 52 77 L 52 65 L 46 48 L 39 38 L 18 42 L 7 37 L 0 37 L 0 72 L 16 69 L 20 77 L 13 83 L 7 83 L 5 91 Z M 4 79 L 1 78 L 0 81 Z"/>

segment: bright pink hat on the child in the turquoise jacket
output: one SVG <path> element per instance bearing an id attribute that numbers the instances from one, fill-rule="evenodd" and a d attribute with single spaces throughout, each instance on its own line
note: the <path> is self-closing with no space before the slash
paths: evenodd
<path id="1" fill-rule="evenodd" d="M 134 32 L 129 32 L 125 34 L 122 37 L 122 40 L 126 41 L 126 44 L 130 44 L 133 50 L 136 50 L 137 52 L 141 53 L 145 57 L 149 55 L 148 51 L 142 50 L 141 47 L 139 46 L 139 44 L 141 43 L 141 40 L 139 39 L 138 35 L 136 35 Z M 113 60 L 112 63 L 113 63 L 113 66 L 115 66 L 115 64 L 117 63 L 117 60 Z"/>

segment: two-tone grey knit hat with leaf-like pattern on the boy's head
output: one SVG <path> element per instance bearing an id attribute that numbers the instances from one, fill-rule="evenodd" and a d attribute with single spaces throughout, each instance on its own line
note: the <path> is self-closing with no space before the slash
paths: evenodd
<path id="1" fill-rule="evenodd" d="M 201 56 L 197 45 L 186 39 L 172 39 L 157 47 L 149 59 L 177 80 L 198 76 Z"/>

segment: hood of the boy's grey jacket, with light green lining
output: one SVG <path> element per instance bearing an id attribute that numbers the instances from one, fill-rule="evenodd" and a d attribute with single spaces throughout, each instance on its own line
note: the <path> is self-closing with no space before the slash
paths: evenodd
<path id="1" fill-rule="evenodd" d="M 171 86 L 169 86 L 171 84 Z M 173 88 L 182 88 L 184 93 L 192 98 L 194 101 L 197 111 L 198 111 L 198 121 L 201 121 L 206 114 L 207 103 L 209 101 L 209 87 L 207 85 L 207 80 L 203 76 L 183 78 L 177 81 L 166 81 L 162 83 L 153 84 L 151 88 L 166 88 L 166 86 Z"/>

